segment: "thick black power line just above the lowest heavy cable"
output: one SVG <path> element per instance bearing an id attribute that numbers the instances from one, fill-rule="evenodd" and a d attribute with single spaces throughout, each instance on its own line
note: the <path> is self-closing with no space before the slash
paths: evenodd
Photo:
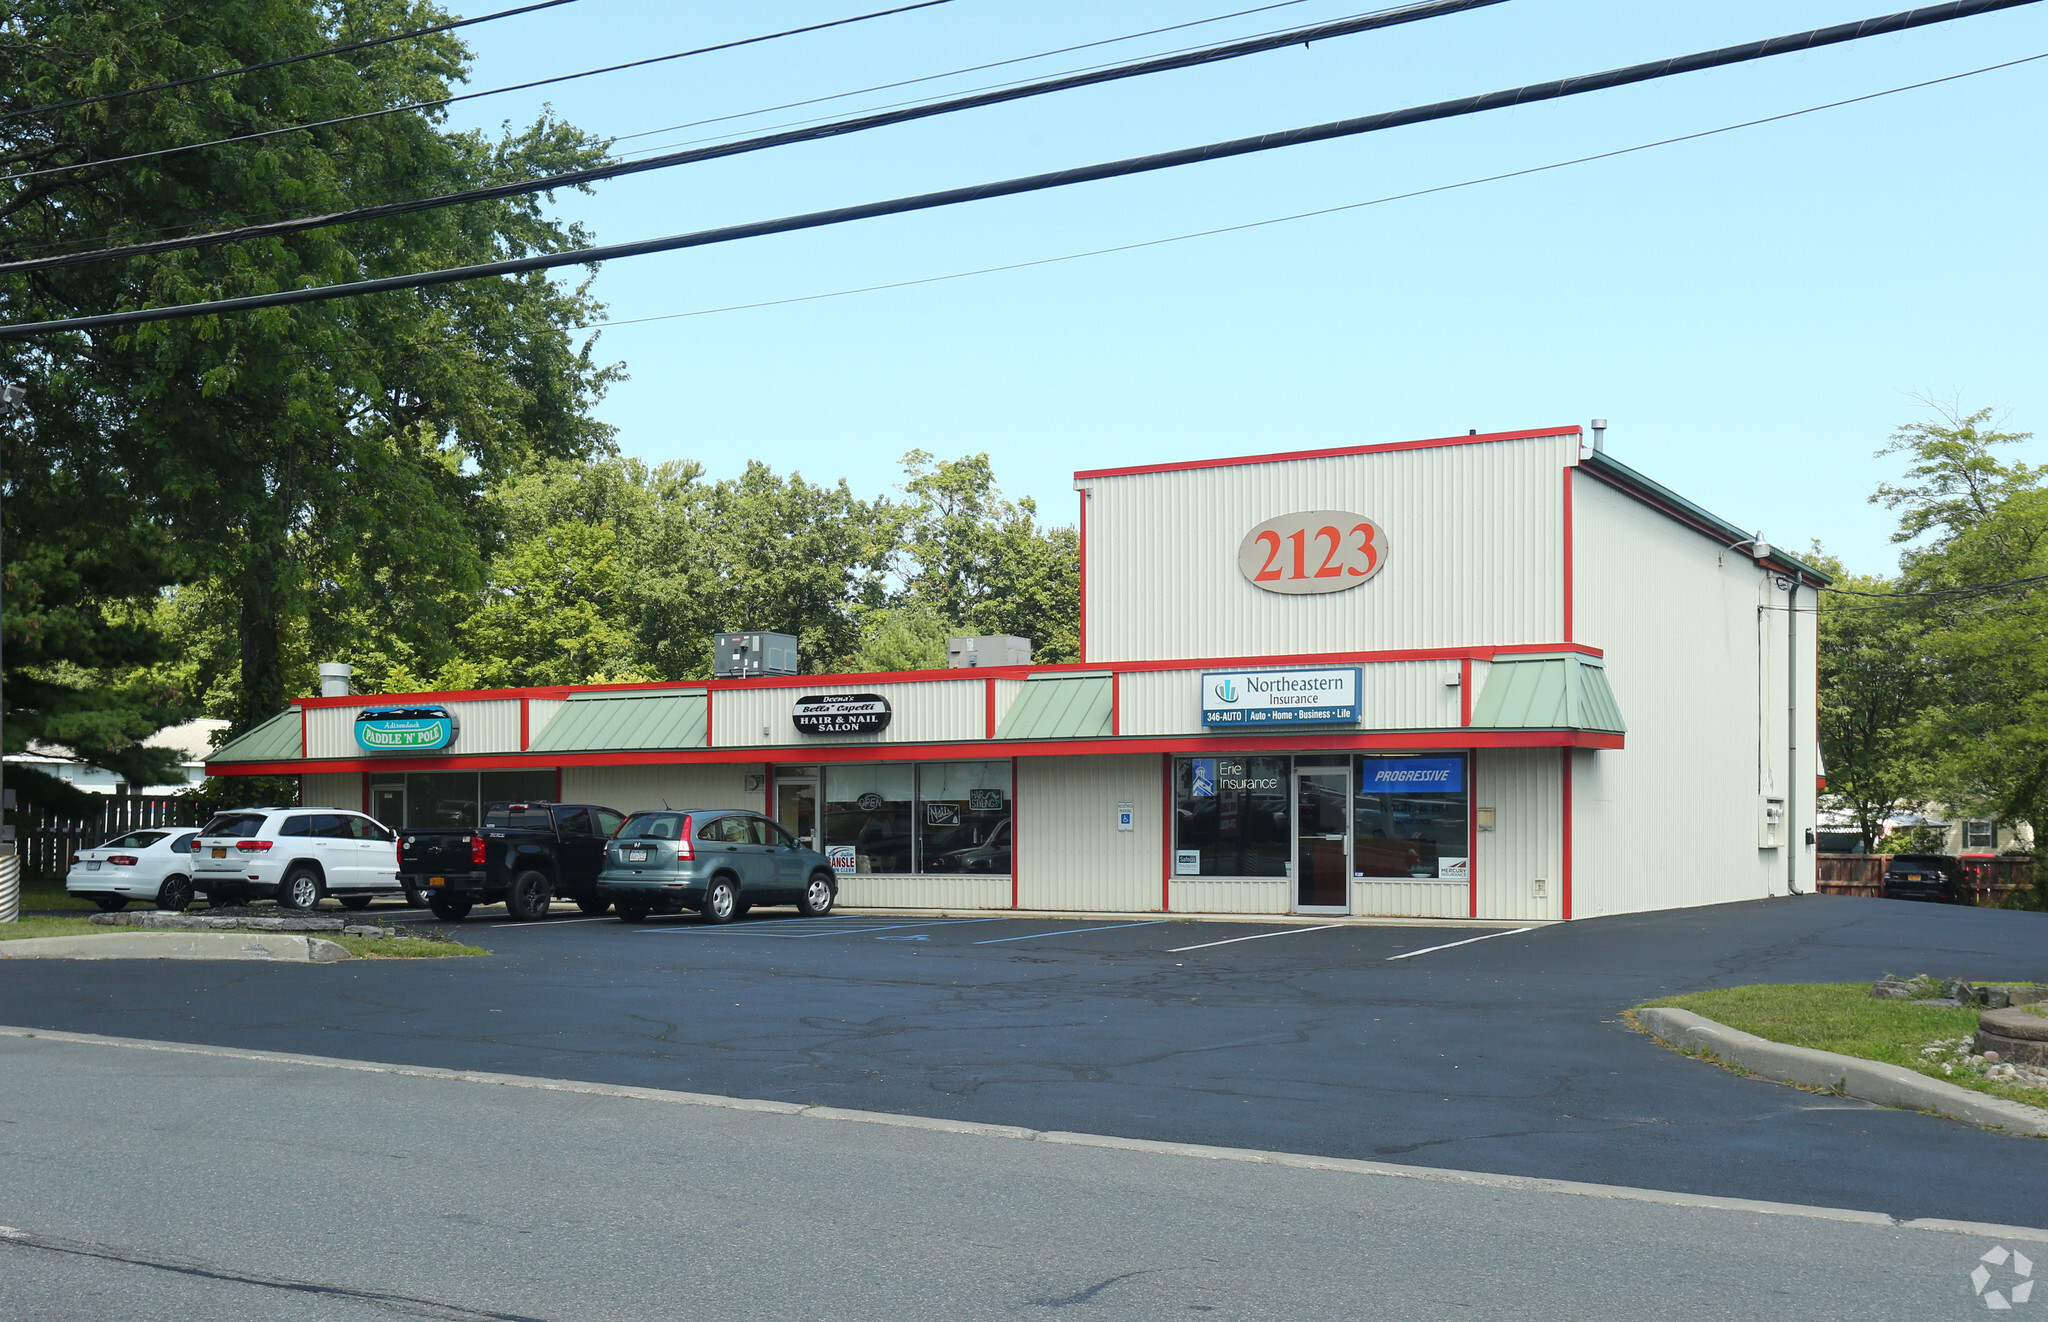
<path id="1" fill-rule="evenodd" d="M 799 129 L 786 129 L 780 133 L 764 133 L 760 137 L 743 137 L 739 141 L 717 143 L 709 147 L 692 147 L 688 151 L 670 151 L 666 156 L 649 156 L 639 162 L 610 162 L 604 166 L 590 166 L 584 170 L 569 170 L 563 174 L 549 174 L 535 180 L 518 180 L 510 184 L 487 184 L 481 188 L 465 188 L 461 192 L 444 192 L 422 199 L 406 199 L 397 203 L 379 203 L 373 207 L 356 207 L 352 211 L 334 211 L 328 215 L 297 217 L 291 221 L 266 221 L 260 225 L 240 225 L 236 229 L 217 229 L 213 233 L 190 233 L 174 239 L 154 239 L 147 244 L 129 244 L 123 248 L 100 248 L 92 252 L 68 252 L 47 258 L 29 258 L 23 262 L 0 264 L 0 274 L 23 274 L 31 270 L 51 270 L 57 266 L 78 266 L 82 262 L 102 262 L 111 258 L 137 258 L 156 256 L 162 252 L 182 252 L 188 248 L 211 248 L 217 244 L 236 244 L 242 239 L 262 239 L 276 237 L 285 233 L 303 233 L 307 229 L 326 229 L 330 225 L 346 225 L 354 221 L 375 221 L 393 215 L 412 215 L 416 211 L 432 211 L 438 207 L 457 207 L 463 203 L 483 203 L 508 196 L 524 196 L 532 192 L 547 192 L 553 188 L 578 188 L 582 184 L 592 184 L 608 178 L 618 178 L 625 174 L 643 174 L 647 170 L 670 170 L 674 166 L 688 166 L 705 160 L 719 160 L 725 156 L 741 156 L 745 151 L 764 151 L 768 147 L 784 147 L 791 143 L 819 141 L 825 137 L 840 137 L 846 133 L 862 133 L 866 129 L 881 129 L 887 125 L 909 123 L 915 119 L 930 119 L 934 115 L 954 115 L 961 111 L 973 111 L 981 106 L 993 106 L 1008 100 L 1022 100 L 1026 96 L 1047 96 L 1051 92 L 1067 92 L 1073 88 L 1096 86 L 1104 82 L 1116 82 L 1120 78 L 1141 78 L 1147 74 L 1161 74 L 1167 70 L 1186 70 L 1202 63 L 1214 63 L 1221 59 L 1237 59 L 1241 55 L 1255 55 L 1262 51 L 1276 51 L 1290 45 L 1300 45 L 1305 41 L 1327 41 L 1331 37 L 1346 37 L 1354 33 L 1366 33 L 1384 27 L 1397 27 L 1403 23 L 1419 23 L 1423 18 L 1438 18 L 1444 14 L 1458 14 L 1473 8 L 1485 8 L 1501 4 L 1503 0 L 1425 0 L 1423 4 L 1411 4 L 1395 10 L 1378 10 L 1372 14 L 1358 14 L 1352 18 L 1339 18 L 1335 23 L 1321 23 L 1305 29 L 1290 29 L 1284 33 L 1268 33 L 1262 37 L 1251 37 L 1245 41 L 1231 41 L 1225 45 L 1198 47 L 1194 51 L 1180 51 L 1174 55 L 1159 55 L 1153 59 L 1141 59 L 1135 63 L 1120 63 L 1104 70 L 1090 70 L 1079 74 L 1067 74 L 1059 78 L 1049 78 L 1042 82 L 1030 82 L 1012 88 L 991 88 L 985 92 L 973 92 L 967 96 L 954 96 L 948 100 L 928 102 L 922 106 L 905 106 L 895 111 L 883 111 L 877 115 L 860 115 L 854 119 L 840 119 L 825 125 L 811 125 Z M 1989 0 L 1964 0 L 1964 2 L 1989 2 Z M 2011 4 L 2032 4 L 2034 0 L 2005 0 Z"/>

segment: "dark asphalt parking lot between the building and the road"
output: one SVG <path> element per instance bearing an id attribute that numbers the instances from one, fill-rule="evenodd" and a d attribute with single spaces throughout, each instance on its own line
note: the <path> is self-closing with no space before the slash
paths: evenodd
<path id="1" fill-rule="evenodd" d="M 494 958 L 10 962 L 0 1021 L 2048 1224 L 2040 1140 L 1741 1078 L 1622 1021 L 1741 982 L 2048 980 L 2048 915 L 1804 896 L 1520 933 L 776 911 L 459 931 Z"/>

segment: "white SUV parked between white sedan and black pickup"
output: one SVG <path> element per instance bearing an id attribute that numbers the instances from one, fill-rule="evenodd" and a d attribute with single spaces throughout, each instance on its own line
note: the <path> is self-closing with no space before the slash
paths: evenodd
<path id="1" fill-rule="evenodd" d="M 215 812 L 193 841 L 193 886 L 215 905 L 276 896 L 313 909 L 332 894 L 362 909 L 397 884 L 397 835 L 342 808 L 236 808 Z"/>

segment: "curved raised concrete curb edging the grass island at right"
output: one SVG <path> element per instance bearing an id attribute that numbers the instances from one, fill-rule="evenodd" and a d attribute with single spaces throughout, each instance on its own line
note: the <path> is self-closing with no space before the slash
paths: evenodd
<path id="1" fill-rule="evenodd" d="M 2048 1136 L 2048 1111 L 2040 1107 L 1974 1093 L 1896 1064 L 1769 1042 L 1686 1009 L 1638 1009 L 1636 1021 L 1667 1046 L 1714 1052 L 1716 1058 L 1774 1083 L 1825 1089 L 1880 1107 L 1935 1111 L 2007 1134 Z"/>

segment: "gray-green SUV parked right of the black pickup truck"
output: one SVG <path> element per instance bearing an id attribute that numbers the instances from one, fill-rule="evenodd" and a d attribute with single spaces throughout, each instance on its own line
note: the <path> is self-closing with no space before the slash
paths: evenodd
<path id="1" fill-rule="evenodd" d="M 739 808 L 635 812 L 606 841 L 598 874 L 598 896 L 623 923 L 684 909 L 729 923 L 756 905 L 795 905 L 815 919 L 838 894 L 831 860 Z"/>

